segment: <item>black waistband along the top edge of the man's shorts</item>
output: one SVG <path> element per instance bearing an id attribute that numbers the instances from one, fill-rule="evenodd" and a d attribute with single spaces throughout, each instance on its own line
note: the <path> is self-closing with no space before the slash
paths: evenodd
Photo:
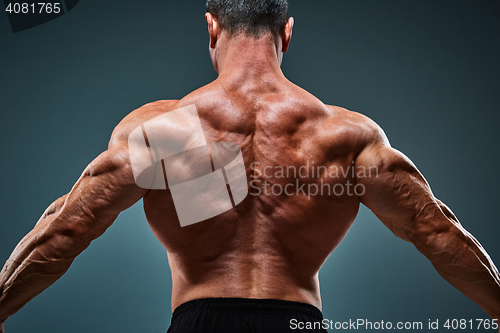
<path id="1" fill-rule="evenodd" d="M 283 301 L 277 299 L 253 298 L 201 298 L 179 305 L 173 318 L 194 311 L 219 311 L 260 314 L 294 314 L 310 316 L 315 320 L 323 320 L 321 311 L 307 303 Z"/>

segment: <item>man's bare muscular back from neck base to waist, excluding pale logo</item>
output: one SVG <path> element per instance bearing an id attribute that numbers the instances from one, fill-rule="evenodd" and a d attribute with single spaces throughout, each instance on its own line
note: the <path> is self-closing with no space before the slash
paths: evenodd
<path id="1" fill-rule="evenodd" d="M 239 145 L 245 161 L 249 195 L 209 220 L 181 228 L 168 190 L 144 198 L 169 253 L 172 307 L 244 297 L 320 308 L 318 271 L 359 207 L 352 162 L 362 149 L 363 118 L 325 106 L 284 77 L 236 82 L 217 80 L 132 114 L 146 121 L 195 105 L 207 141 Z"/>

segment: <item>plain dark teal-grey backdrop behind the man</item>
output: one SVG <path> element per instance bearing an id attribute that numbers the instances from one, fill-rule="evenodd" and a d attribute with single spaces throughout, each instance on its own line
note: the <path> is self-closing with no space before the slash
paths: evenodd
<path id="1" fill-rule="evenodd" d="M 500 263 L 500 2 L 292 0 L 290 11 L 285 75 L 378 122 Z M 215 79 L 203 15 L 201 0 L 82 0 L 13 34 L 0 14 L 2 263 L 121 118 Z M 141 209 L 122 213 L 7 333 L 165 332 L 166 251 Z M 365 208 L 320 279 L 334 321 L 488 318 Z"/>

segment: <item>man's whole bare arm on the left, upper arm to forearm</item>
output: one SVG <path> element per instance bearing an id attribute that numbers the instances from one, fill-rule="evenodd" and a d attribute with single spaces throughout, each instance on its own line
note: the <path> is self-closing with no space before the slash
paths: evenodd
<path id="1" fill-rule="evenodd" d="M 47 208 L 0 272 L 0 333 L 8 317 L 58 280 L 121 211 L 146 193 L 135 184 L 126 140 L 112 139 L 72 190 Z"/>

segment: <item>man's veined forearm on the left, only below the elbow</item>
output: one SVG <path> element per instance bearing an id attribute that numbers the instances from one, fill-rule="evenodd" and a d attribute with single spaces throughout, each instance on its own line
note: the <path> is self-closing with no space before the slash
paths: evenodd
<path id="1" fill-rule="evenodd" d="M 116 212 L 89 208 L 85 198 L 77 188 L 56 200 L 14 249 L 0 272 L 0 323 L 57 281 L 113 223 Z"/>

